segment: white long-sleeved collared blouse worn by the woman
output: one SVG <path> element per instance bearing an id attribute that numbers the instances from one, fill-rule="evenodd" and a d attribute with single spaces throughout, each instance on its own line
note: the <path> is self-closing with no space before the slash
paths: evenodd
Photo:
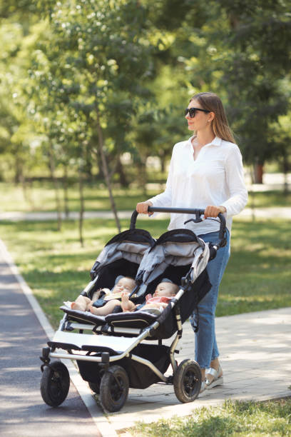
<path id="1" fill-rule="evenodd" d="M 226 226 L 230 231 L 233 216 L 247 204 L 242 155 L 236 144 L 217 136 L 193 157 L 191 140 L 175 144 L 165 191 L 149 199 L 153 206 L 205 209 L 208 205 L 225 206 Z M 219 219 L 200 223 L 184 222 L 189 214 L 170 214 L 168 229 L 190 228 L 197 235 L 218 231 Z"/>

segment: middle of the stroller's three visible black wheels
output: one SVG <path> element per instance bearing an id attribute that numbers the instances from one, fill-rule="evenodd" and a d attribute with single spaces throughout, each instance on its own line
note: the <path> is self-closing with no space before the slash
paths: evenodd
<path id="1" fill-rule="evenodd" d="M 128 375 L 123 367 L 111 366 L 100 384 L 100 401 L 107 411 L 119 411 L 128 397 Z"/>

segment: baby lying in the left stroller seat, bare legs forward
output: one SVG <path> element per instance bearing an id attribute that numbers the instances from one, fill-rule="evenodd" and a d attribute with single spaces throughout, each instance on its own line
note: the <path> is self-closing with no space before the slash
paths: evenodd
<path id="1" fill-rule="evenodd" d="M 92 300 L 86 296 L 78 296 L 76 301 L 71 302 L 71 308 L 81 311 L 91 311 L 91 313 L 98 316 L 107 316 L 107 314 L 112 313 L 113 308 L 116 305 L 121 305 L 121 301 L 118 301 L 117 299 L 121 298 L 122 294 L 128 296 L 135 286 L 136 281 L 133 278 L 130 278 L 129 276 L 121 276 L 112 291 L 108 288 L 102 288 L 93 294 Z M 103 296 L 102 299 L 99 299 L 101 300 L 101 308 L 96 308 L 93 306 L 93 303 L 98 299 L 101 291 L 105 293 L 105 296 Z"/>

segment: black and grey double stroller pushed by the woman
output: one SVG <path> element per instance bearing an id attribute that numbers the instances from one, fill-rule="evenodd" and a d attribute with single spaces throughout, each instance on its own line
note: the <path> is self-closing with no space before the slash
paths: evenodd
<path id="1" fill-rule="evenodd" d="M 204 213 L 201 209 L 148 210 L 193 214 L 193 221 L 201 221 Z M 183 323 L 210 290 L 206 266 L 225 244 L 225 218 L 219 214 L 219 241 L 205 243 L 187 228 L 165 232 L 155 240 L 148 231 L 136 228 L 137 216 L 134 211 L 130 228 L 103 248 L 81 295 L 92 298 L 99 288 L 113 287 L 119 275 L 136 278 L 130 295 L 136 304 L 145 301 L 162 278 L 177 284 L 179 291 L 158 314 L 141 308 L 96 316 L 61 306 L 63 318 L 41 356 L 41 396 L 49 406 L 59 406 L 68 394 L 70 378 L 63 359 L 76 360 L 81 377 L 98 393 L 101 406 L 109 412 L 123 407 L 128 388 L 172 384 L 183 403 L 194 401 L 200 392 L 198 363 L 186 359 L 178 364 L 175 352 Z M 171 337 L 170 346 L 163 344 Z M 169 366 L 171 373 L 165 376 Z"/>

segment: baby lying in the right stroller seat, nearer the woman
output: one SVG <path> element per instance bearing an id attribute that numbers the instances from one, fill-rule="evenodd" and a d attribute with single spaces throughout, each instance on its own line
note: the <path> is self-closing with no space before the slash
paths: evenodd
<path id="1" fill-rule="evenodd" d="M 148 311 L 149 308 L 155 308 L 158 311 L 149 310 L 148 312 L 160 313 L 168 305 L 178 290 L 179 287 L 175 285 L 175 283 L 165 278 L 158 284 L 157 288 L 155 288 L 155 293 L 153 293 L 153 296 L 150 294 L 146 296 L 146 303 L 144 305 L 136 306 L 128 299 L 128 294 L 123 293 L 123 296 L 121 297 L 121 308 L 123 312 L 136 311 L 137 309 L 141 311 Z"/>

